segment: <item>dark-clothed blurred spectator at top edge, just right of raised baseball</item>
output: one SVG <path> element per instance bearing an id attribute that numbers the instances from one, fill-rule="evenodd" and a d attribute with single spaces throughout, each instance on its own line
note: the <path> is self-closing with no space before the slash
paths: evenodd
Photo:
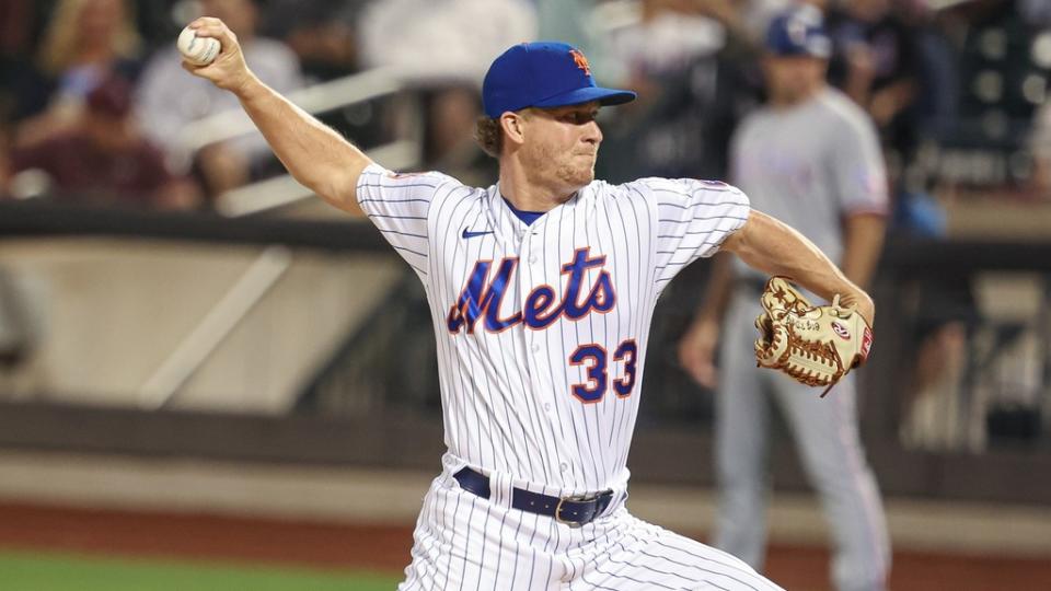
<path id="1" fill-rule="evenodd" d="M 367 2 L 270 0 L 262 31 L 296 51 L 308 78 L 333 80 L 360 68 L 355 23 Z"/>

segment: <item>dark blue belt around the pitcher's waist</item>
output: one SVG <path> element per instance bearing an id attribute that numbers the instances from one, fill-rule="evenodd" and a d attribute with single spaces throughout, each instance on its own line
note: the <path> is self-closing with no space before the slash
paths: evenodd
<path id="1" fill-rule="evenodd" d="M 460 487 L 470 493 L 489 498 L 489 477 L 465 467 L 452 475 L 460 483 Z M 596 520 L 605 511 L 613 500 L 612 490 L 603 490 L 594 495 L 574 495 L 570 497 L 552 497 L 531 493 L 522 488 L 511 489 L 511 507 L 520 511 L 529 511 L 540 515 L 555 518 L 558 523 L 570 528 L 580 528 Z"/>

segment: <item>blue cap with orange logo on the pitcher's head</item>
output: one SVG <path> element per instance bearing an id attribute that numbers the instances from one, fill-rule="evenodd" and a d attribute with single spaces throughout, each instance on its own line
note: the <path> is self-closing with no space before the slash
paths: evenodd
<path id="1" fill-rule="evenodd" d="M 635 100 L 632 91 L 594 84 L 591 66 L 578 49 L 565 43 L 516 45 L 493 60 L 482 83 L 487 117 L 526 107 L 558 107 L 598 101 L 620 105 Z"/>

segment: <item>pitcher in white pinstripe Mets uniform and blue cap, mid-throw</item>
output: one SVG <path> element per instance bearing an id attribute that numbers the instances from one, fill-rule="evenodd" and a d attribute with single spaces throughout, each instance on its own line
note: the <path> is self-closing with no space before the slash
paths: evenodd
<path id="1" fill-rule="evenodd" d="M 810 242 L 723 183 L 594 179 L 599 88 L 561 43 L 511 47 L 483 84 L 477 135 L 499 182 L 372 162 L 262 84 L 235 35 L 187 70 L 234 93 L 275 153 L 335 207 L 367 216 L 426 288 L 446 444 L 401 589 L 778 589 L 741 560 L 625 508 L 628 447 L 661 290 L 718 250 L 873 317 Z"/>

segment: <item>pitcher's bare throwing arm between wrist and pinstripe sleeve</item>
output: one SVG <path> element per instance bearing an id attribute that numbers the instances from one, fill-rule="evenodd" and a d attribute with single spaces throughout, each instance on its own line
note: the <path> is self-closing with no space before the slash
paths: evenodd
<path id="1" fill-rule="evenodd" d="M 371 163 L 361 150 L 254 76 L 235 94 L 297 181 L 332 205 L 360 213 L 357 181 Z"/>

